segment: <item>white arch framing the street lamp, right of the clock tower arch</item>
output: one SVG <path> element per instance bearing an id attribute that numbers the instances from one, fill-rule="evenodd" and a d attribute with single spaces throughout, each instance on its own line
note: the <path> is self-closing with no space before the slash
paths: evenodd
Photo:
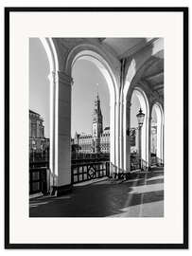
<path id="1" fill-rule="evenodd" d="M 164 98 L 164 49 L 163 41 L 160 40 L 157 45 L 148 46 L 145 49 L 145 54 L 141 56 L 132 56 L 130 61 L 127 62 L 125 66 L 125 78 L 123 81 L 124 86 L 122 86 L 121 101 L 123 102 L 120 110 L 122 117 L 121 122 L 121 134 L 122 134 L 122 162 L 123 162 L 123 172 L 127 173 L 130 171 L 130 139 L 127 137 L 127 130 L 130 129 L 130 108 L 131 108 L 131 95 L 134 88 L 140 88 L 144 92 L 144 99 L 148 102 L 148 120 L 147 126 L 147 140 L 148 145 L 146 146 L 146 156 L 145 161 L 147 165 L 150 165 L 150 106 L 151 102 L 159 100 L 163 102 Z M 160 79 L 160 81 L 158 81 Z M 157 80 L 157 81 L 156 81 Z M 145 118 L 145 119 L 146 119 Z M 145 126 L 144 126 L 145 127 Z M 144 139 L 144 138 L 143 138 Z M 143 155 L 144 156 L 144 155 Z"/>

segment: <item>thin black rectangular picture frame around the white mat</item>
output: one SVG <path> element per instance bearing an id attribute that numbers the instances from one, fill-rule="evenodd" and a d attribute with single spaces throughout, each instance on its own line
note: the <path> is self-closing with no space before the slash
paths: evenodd
<path id="1" fill-rule="evenodd" d="M 9 241 L 9 13 L 28 11 L 167 11 L 183 13 L 183 244 L 12 244 Z M 5 248 L 188 248 L 188 8 L 5 8 Z"/>

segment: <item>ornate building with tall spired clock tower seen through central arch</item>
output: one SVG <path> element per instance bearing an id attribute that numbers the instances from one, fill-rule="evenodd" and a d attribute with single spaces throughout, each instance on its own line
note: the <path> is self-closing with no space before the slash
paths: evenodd
<path id="1" fill-rule="evenodd" d="M 100 108 L 100 99 L 96 95 L 92 134 L 78 134 L 72 139 L 72 151 L 84 154 L 110 153 L 110 127 L 103 130 L 103 116 Z"/>

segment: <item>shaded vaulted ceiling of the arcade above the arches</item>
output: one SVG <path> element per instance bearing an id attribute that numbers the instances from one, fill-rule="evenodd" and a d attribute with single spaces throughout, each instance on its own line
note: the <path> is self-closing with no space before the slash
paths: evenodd
<path id="1" fill-rule="evenodd" d="M 75 47 L 79 44 L 83 44 L 86 41 L 90 41 L 94 44 L 100 44 L 106 52 L 110 52 L 113 59 L 116 62 L 122 59 L 130 59 L 134 56 L 139 56 L 139 62 L 142 63 L 142 57 L 146 60 L 148 55 L 148 50 L 151 52 L 148 55 L 149 64 L 146 65 L 146 68 L 142 70 L 142 75 L 140 77 L 141 81 L 144 81 L 148 84 L 148 87 L 151 91 L 158 93 L 158 95 L 164 98 L 164 50 L 156 51 L 157 53 L 153 55 L 153 43 L 157 41 L 158 38 L 57 38 L 57 43 L 59 42 L 64 45 L 65 51 L 70 51 L 70 48 Z M 62 44 L 63 43 L 63 44 Z M 149 47 L 148 47 L 149 46 Z M 151 47 L 150 47 L 151 46 Z M 162 48 L 162 47 L 160 47 Z M 144 54 L 144 55 L 142 55 Z M 59 56 L 61 59 L 62 56 Z M 137 58 L 136 57 L 136 58 Z M 62 61 L 61 61 L 62 63 Z M 144 62 L 143 65 L 146 63 Z M 140 67 L 139 67 L 140 68 Z"/>

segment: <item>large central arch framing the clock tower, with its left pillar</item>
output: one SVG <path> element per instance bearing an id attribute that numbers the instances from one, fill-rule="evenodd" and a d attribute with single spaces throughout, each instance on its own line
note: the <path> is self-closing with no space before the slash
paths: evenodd
<path id="1" fill-rule="evenodd" d="M 96 46 L 79 45 L 61 59 L 61 49 L 56 49 L 51 39 L 42 39 L 50 64 L 51 125 L 50 125 L 50 172 L 53 193 L 60 194 L 71 184 L 71 77 L 73 65 L 84 59 L 96 64 L 103 74 L 110 92 L 111 170 L 116 169 L 118 159 L 118 89 L 113 68 L 105 54 Z M 93 48 L 93 49 L 91 49 Z M 104 57 L 102 56 L 104 55 Z M 59 58 L 60 57 L 60 58 Z M 64 64 L 61 64 L 64 62 Z M 64 70 L 60 68 L 64 67 Z M 113 171 L 112 171 L 113 172 Z"/>

